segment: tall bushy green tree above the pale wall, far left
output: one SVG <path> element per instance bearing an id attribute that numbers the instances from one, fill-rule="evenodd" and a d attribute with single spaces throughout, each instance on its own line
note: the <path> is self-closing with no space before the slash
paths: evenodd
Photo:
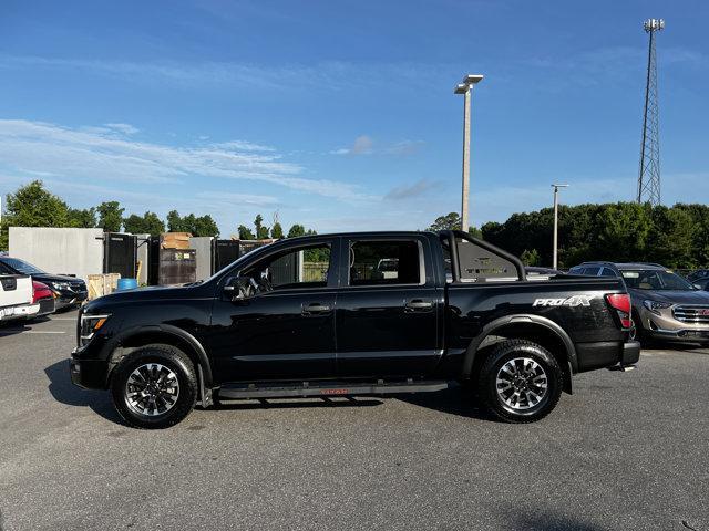
<path id="1" fill-rule="evenodd" d="M 44 189 L 41 180 L 21 186 L 6 197 L 6 214 L 0 230 L 0 249 L 8 248 L 9 227 L 66 227 L 69 207 Z"/>

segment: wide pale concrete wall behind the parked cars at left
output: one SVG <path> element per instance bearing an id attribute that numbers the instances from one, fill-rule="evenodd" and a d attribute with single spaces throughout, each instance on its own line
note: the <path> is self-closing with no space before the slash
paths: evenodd
<path id="1" fill-rule="evenodd" d="M 89 274 L 103 273 L 103 230 L 10 227 L 10 256 L 48 273 L 86 280 Z"/>

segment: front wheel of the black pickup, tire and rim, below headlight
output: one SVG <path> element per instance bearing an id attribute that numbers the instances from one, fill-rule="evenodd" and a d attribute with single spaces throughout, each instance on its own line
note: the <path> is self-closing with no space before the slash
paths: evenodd
<path id="1" fill-rule="evenodd" d="M 161 429 L 184 419 L 197 402 L 189 357 L 169 345 L 148 345 L 127 355 L 111 378 L 113 405 L 134 428 Z"/>

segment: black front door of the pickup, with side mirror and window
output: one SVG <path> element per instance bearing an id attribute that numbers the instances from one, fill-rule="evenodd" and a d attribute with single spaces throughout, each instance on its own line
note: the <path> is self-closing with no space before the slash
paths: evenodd
<path id="1" fill-rule="evenodd" d="M 306 246 L 275 244 L 273 252 L 234 273 L 251 279 L 257 294 L 232 300 L 233 293 L 220 293 L 215 301 L 210 347 L 216 379 L 336 376 L 337 243 L 323 238 Z"/>

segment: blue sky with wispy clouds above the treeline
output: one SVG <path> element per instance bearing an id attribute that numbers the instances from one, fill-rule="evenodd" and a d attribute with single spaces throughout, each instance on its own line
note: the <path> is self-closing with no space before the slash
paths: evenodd
<path id="1" fill-rule="evenodd" d="M 423 229 L 631 200 L 658 35 L 662 202 L 709 201 L 709 2 L 0 2 L 0 194 L 74 208 L 261 214 L 319 232 Z M 4 201 L 3 201 L 4 204 Z"/>

